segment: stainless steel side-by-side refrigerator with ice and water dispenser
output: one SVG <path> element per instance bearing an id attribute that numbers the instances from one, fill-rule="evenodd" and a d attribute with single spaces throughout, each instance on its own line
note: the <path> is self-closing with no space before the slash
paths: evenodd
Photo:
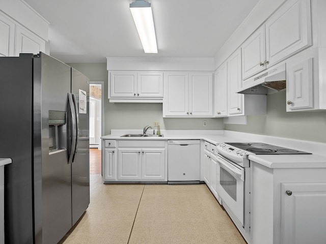
<path id="1" fill-rule="evenodd" d="M 89 80 L 44 53 L 0 57 L 5 243 L 58 243 L 89 189 Z"/>

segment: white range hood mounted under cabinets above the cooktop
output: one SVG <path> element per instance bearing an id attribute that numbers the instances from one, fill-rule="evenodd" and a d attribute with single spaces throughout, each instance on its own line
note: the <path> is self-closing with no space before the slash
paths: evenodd
<path id="1" fill-rule="evenodd" d="M 286 65 L 267 69 L 247 80 L 237 90 L 240 94 L 271 94 L 286 88 Z"/>

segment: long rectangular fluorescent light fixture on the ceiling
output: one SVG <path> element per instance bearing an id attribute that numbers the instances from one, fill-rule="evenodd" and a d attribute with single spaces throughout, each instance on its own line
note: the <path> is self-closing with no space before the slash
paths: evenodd
<path id="1" fill-rule="evenodd" d="M 144 52 L 157 53 L 155 29 L 151 4 L 136 0 L 130 4 L 130 11 L 141 39 Z"/>

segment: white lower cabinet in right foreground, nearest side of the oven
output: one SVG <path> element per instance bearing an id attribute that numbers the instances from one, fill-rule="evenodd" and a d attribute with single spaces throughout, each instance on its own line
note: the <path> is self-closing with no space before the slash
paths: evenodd
<path id="1" fill-rule="evenodd" d="M 250 165 L 251 244 L 324 243 L 326 169 Z"/>

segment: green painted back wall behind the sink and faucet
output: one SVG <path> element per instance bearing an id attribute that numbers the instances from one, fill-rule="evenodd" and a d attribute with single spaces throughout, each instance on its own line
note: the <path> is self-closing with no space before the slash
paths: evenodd
<path id="1" fill-rule="evenodd" d="M 106 64 L 69 64 L 85 74 L 91 81 L 104 81 L 104 134 L 112 129 L 143 129 L 154 126 L 158 121 L 160 129 L 168 130 L 223 130 L 222 118 L 163 118 L 161 103 L 109 103 L 107 99 Z M 207 126 L 203 126 L 203 121 Z"/>

